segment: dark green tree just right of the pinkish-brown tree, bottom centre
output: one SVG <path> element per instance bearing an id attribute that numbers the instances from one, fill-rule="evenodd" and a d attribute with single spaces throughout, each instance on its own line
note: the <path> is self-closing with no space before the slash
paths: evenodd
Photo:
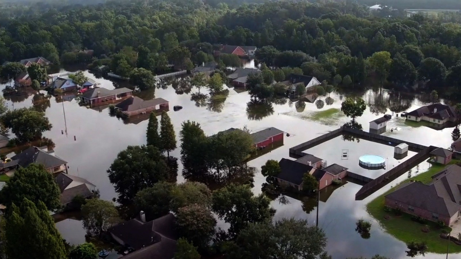
<path id="1" fill-rule="evenodd" d="M 231 183 L 213 193 L 213 211 L 231 225 L 231 237 L 236 237 L 249 223 L 270 221 L 275 214 L 270 203 L 264 194 L 254 196 L 249 185 Z"/>

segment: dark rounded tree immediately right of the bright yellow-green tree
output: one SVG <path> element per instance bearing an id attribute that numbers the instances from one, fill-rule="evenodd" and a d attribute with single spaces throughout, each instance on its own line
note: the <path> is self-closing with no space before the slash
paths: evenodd
<path id="1" fill-rule="evenodd" d="M 401 55 L 396 55 L 392 59 L 392 65 L 389 71 L 389 80 L 398 85 L 408 85 L 416 81 L 418 71 L 414 65 Z"/>

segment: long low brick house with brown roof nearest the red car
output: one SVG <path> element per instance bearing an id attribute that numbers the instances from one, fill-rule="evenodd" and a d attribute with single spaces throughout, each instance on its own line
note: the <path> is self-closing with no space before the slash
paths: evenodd
<path id="1" fill-rule="evenodd" d="M 107 88 L 95 87 L 82 94 L 85 104 L 90 106 L 106 105 L 120 102 L 133 95 L 133 90 L 129 88 L 116 88 L 109 90 Z"/>

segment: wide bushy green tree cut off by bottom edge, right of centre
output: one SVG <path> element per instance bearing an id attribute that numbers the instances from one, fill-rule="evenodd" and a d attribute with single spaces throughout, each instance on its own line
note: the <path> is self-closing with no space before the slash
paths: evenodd
<path id="1" fill-rule="evenodd" d="M 275 224 L 248 224 L 231 246 L 231 259 L 331 258 L 325 252 L 325 233 L 306 220 L 284 218 Z"/>

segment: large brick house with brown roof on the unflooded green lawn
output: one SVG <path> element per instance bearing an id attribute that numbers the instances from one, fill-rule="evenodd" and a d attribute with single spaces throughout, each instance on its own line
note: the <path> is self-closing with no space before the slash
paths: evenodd
<path id="1" fill-rule="evenodd" d="M 407 182 L 384 196 L 384 204 L 402 212 L 449 225 L 460 216 L 461 167 L 446 166 L 428 184 Z"/>

